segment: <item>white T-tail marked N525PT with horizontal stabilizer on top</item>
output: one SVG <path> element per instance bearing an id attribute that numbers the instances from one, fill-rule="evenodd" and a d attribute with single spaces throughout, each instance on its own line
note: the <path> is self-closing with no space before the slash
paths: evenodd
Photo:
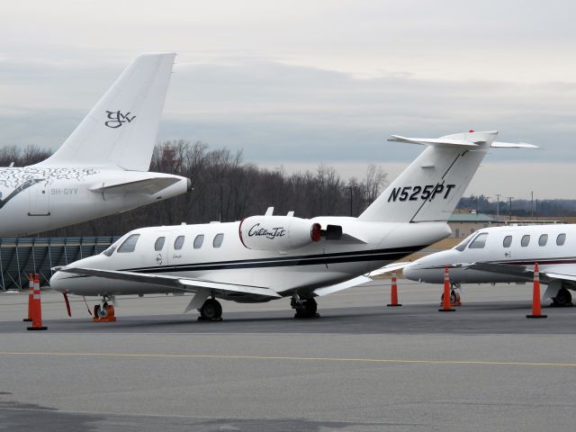
<path id="1" fill-rule="evenodd" d="M 390 141 L 425 145 L 420 156 L 358 217 L 366 221 L 446 221 L 489 148 L 536 148 L 532 144 L 496 142 L 497 131 L 466 132 L 439 139 Z"/>

